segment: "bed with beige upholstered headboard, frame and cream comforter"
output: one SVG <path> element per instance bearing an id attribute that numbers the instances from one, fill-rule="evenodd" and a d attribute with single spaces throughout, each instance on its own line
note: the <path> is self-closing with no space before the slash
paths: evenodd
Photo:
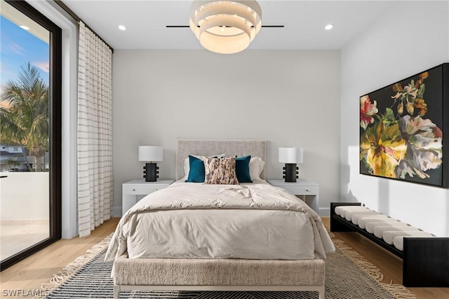
<path id="1" fill-rule="evenodd" d="M 335 248 L 319 216 L 264 181 L 264 168 L 239 185 L 185 182 L 191 154 L 264 161 L 266 142 L 177 140 L 177 181 L 123 215 L 109 244 L 114 298 L 135 289 L 318 291 L 324 298 L 324 259 Z M 205 160 L 206 168 L 209 161 L 218 160 Z"/>

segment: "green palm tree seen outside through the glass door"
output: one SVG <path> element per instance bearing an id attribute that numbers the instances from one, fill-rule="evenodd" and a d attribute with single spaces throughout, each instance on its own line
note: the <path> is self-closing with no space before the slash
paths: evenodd
<path id="1" fill-rule="evenodd" d="M 34 156 L 36 172 L 42 170 L 42 157 L 48 144 L 48 86 L 39 69 L 29 62 L 22 65 L 18 81 L 8 81 L 0 101 L 0 138 L 2 142 L 27 147 Z M 27 167 L 31 167 L 25 157 Z"/>

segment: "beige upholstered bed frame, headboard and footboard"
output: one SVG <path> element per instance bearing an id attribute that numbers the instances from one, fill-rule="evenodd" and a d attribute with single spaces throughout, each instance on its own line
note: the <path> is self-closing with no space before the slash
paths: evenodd
<path id="1" fill-rule="evenodd" d="M 189 154 L 243 156 L 266 161 L 265 140 L 177 140 L 176 179 Z M 261 178 L 265 178 L 265 171 Z M 324 299 L 324 260 L 128 258 L 114 261 L 114 298 L 123 290 L 317 291 Z"/>

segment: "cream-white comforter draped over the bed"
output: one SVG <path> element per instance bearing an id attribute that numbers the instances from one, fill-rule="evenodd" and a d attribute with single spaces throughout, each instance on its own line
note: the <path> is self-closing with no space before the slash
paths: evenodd
<path id="1" fill-rule="evenodd" d="M 307 204 L 265 181 L 175 182 L 123 215 L 106 260 L 128 258 L 326 258 L 335 251 Z"/>

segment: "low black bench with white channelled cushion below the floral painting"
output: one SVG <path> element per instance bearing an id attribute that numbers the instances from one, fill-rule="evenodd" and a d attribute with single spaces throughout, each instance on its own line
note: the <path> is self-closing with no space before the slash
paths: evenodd
<path id="1" fill-rule="evenodd" d="M 354 222 L 335 213 L 338 206 L 361 206 L 360 203 L 330 203 L 330 231 L 331 232 L 358 232 L 364 237 L 387 249 L 403 260 L 403 285 L 408 287 L 449 287 L 449 237 L 412 237 L 402 236 L 394 238 L 395 244 L 388 244 L 384 239 L 368 232 L 361 221 L 361 228 Z M 363 212 L 361 212 L 363 213 Z M 368 212 L 370 213 L 370 212 Z M 377 212 L 376 212 L 377 213 Z M 388 216 L 379 216 L 372 213 L 373 218 L 397 221 Z M 358 219 L 355 219 L 356 223 Z M 377 221 L 377 220 L 376 220 Z M 370 224 L 373 224 L 373 221 Z M 400 224 L 398 224 L 400 225 Z M 406 225 L 406 224 L 405 224 Z M 408 230 L 412 230 L 408 225 Z M 421 231 L 422 232 L 422 231 Z M 384 232 L 394 237 L 395 232 Z M 406 233 L 407 234 L 407 233 Z M 413 233 L 410 233 L 413 234 Z M 417 232 L 415 234 L 420 234 Z M 424 233 L 422 233 L 424 234 Z M 379 235 L 379 234 L 378 234 Z M 403 241 L 403 244 L 401 242 Z M 389 241 L 391 243 L 391 241 Z M 401 245 L 403 250 L 400 250 Z"/>

